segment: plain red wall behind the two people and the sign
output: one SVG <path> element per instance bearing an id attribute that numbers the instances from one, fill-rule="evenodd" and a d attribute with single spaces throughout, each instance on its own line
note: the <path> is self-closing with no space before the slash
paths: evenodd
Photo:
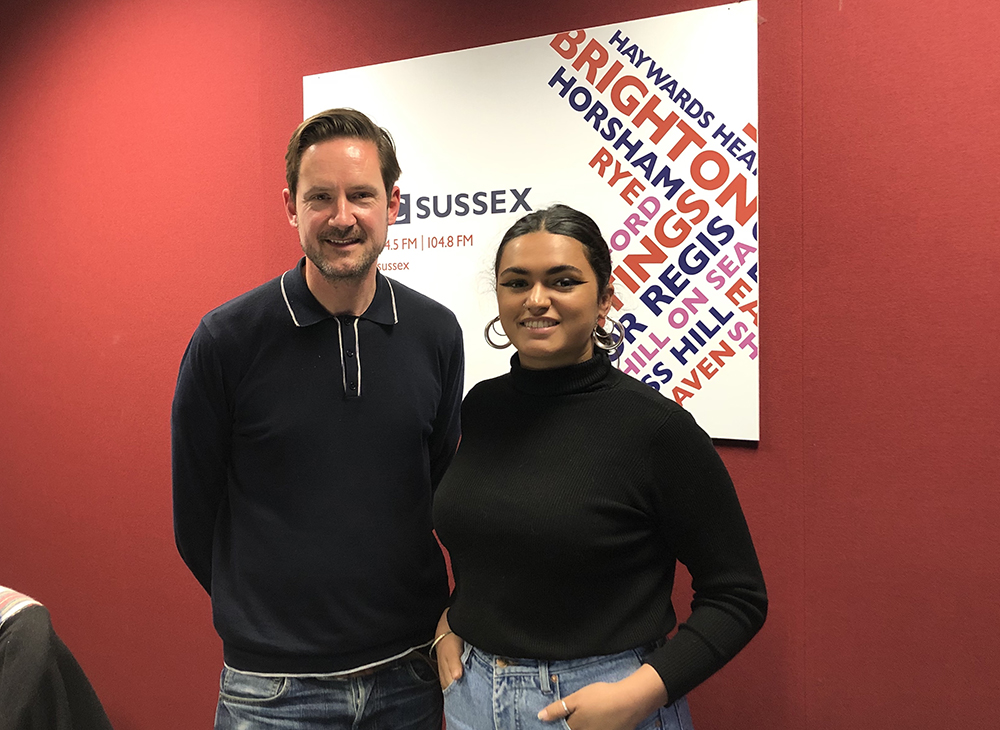
<path id="1" fill-rule="evenodd" d="M 0 583 L 119 730 L 211 723 L 169 405 L 201 314 L 298 256 L 301 77 L 707 4 L 2 0 Z M 772 610 L 695 720 L 994 727 L 1000 4 L 760 15 L 762 438 L 721 450 Z"/>

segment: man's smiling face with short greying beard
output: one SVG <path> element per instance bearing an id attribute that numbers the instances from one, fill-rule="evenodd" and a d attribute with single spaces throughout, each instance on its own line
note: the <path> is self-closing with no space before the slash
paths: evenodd
<path id="1" fill-rule="evenodd" d="M 399 188 L 386 194 L 374 143 L 339 137 L 308 147 L 295 199 L 287 189 L 284 196 L 306 266 L 331 282 L 362 280 L 372 273 L 399 213 Z"/>

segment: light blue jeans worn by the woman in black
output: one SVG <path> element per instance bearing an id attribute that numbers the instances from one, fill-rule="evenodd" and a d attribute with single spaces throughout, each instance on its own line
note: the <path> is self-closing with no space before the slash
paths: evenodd
<path id="1" fill-rule="evenodd" d="M 498 657 L 466 642 L 462 676 L 444 690 L 447 730 L 567 730 L 566 720 L 542 722 L 538 711 L 594 682 L 617 682 L 642 666 L 648 652 L 539 661 Z M 569 718 L 572 722 L 572 716 Z M 637 730 L 694 730 L 687 699 L 661 707 Z"/>

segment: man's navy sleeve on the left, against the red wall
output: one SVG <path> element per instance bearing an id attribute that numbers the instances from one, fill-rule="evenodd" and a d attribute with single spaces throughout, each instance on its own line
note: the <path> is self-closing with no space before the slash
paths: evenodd
<path id="1" fill-rule="evenodd" d="M 212 593 L 212 543 L 226 494 L 232 417 L 215 341 L 202 322 L 181 360 L 170 420 L 174 539 Z"/>

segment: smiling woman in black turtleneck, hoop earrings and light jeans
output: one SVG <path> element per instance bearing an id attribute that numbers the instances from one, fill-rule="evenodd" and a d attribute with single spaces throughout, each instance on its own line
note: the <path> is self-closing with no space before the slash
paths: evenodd
<path id="1" fill-rule="evenodd" d="M 448 729 L 689 728 L 684 695 L 767 610 L 732 482 L 686 411 L 612 367 L 593 220 L 524 216 L 495 273 L 517 354 L 466 397 L 434 503 L 456 581 L 435 639 Z M 667 640 L 677 560 L 695 593 Z"/>

